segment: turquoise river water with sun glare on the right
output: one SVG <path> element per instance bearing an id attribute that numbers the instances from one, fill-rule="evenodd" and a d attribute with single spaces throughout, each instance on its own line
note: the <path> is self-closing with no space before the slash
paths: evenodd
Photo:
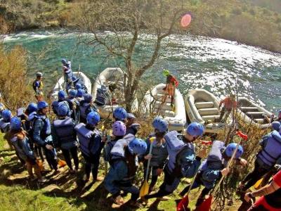
<path id="1" fill-rule="evenodd" d="M 110 32 L 101 34 L 110 35 Z M 29 55 L 29 75 L 44 72 L 47 89 L 51 90 L 61 75 L 61 58 L 72 60 L 72 69 L 85 72 L 93 81 L 107 67 L 124 66 L 120 58 L 107 55 L 104 49 L 93 49 L 81 43 L 91 34 L 56 31 L 33 31 L 8 34 L 4 44 L 9 48 L 22 45 Z M 143 34 L 133 56 L 137 65 L 145 63 L 152 53 L 152 37 Z M 169 43 L 169 46 L 166 44 Z M 276 111 L 281 108 L 281 55 L 235 41 L 208 37 L 171 36 L 164 42 L 161 56 L 148 70 L 143 81 L 164 82 L 163 69 L 171 70 L 180 81 L 179 89 L 204 88 L 216 96 L 235 87 L 247 96 Z"/>

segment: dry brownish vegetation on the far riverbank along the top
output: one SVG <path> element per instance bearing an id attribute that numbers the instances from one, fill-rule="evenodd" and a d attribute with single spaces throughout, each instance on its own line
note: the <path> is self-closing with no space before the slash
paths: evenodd
<path id="1" fill-rule="evenodd" d="M 104 1 L 95 2 L 102 4 Z M 122 1 L 118 2 L 122 3 Z M 151 1 L 151 3 L 155 2 Z M 169 0 L 162 0 L 162 4 L 166 2 Z M 174 0 L 172 2 L 171 5 L 182 4 L 186 12 L 192 13 L 193 20 L 188 29 L 191 34 L 230 39 L 281 52 L 280 1 Z M 0 0 L 0 15 L 8 20 L 14 30 L 34 27 L 77 27 L 75 25 L 77 8 L 85 3 L 86 0 Z M 113 7 L 106 9 L 114 11 Z M 111 30 L 112 25 L 115 23 L 103 25 L 99 30 Z"/>

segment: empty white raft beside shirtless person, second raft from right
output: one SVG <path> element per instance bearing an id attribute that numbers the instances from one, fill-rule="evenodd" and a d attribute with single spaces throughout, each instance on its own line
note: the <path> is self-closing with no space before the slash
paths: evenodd
<path id="1" fill-rule="evenodd" d="M 226 120 L 227 123 L 216 122 L 221 114 L 218 104 L 216 96 L 204 89 L 192 89 L 185 97 L 185 110 L 190 122 L 204 124 L 207 133 L 217 134 L 230 123 L 231 115 Z"/>

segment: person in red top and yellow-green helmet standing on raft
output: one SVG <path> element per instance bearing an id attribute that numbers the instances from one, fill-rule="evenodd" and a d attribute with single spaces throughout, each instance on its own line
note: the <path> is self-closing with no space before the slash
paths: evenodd
<path id="1" fill-rule="evenodd" d="M 166 77 L 166 87 L 164 87 L 164 98 L 162 99 L 162 103 L 166 101 L 166 97 L 171 97 L 171 107 L 174 110 L 174 95 L 176 87 L 178 87 L 178 80 L 174 75 L 171 75 L 169 70 L 164 70 L 163 75 Z"/>

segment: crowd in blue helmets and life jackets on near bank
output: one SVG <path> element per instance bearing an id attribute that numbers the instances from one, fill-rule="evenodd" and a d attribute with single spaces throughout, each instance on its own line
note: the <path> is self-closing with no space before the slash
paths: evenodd
<path id="1" fill-rule="evenodd" d="M 71 64 L 63 60 L 63 65 L 65 73 L 69 74 Z M 37 76 L 42 77 L 39 74 Z M 198 122 L 188 124 L 181 134 L 169 131 L 168 122 L 162 117 L 155 117 L 152 121 L 154 130 L 147 139 L 142 140 L 137 138 L 141 125 L 135 115 L 118 107 L 112 114 L 112 134 L 106 135 L 103 129 L 98 130 L 100 115 L 93 105 L 93 97 L 81 89 L 81 84 L 71 81 L 70 89 L 67 89 L 68 96 L 61 90 L 58 92 L 58 101 L 51 104 L 56 115 L 53 122 L 48 117 L 49 106 L 45 101 L 30 103 L 26 108 L 18 109 L 15 116 L 0 101 L 1 132 L 32 180 L 38 179 L 39 183 L 46 181 L 41 175 L 41 162 L 45 158 L 53 174 L 60 172 L 57 154 L 60 149 L 70 174 L 79 170 L 78 154 L 81 151 L 85 161 L 84 181 L 90 180 L 91 173 L 93 181 L 101 181 L 103 178 L 98 177 L 98 171 L 104 151 L 103 159 L 110 165 L 104 186 L 117 205 L 124 204 L 123 197 L 127 193 L 131 193 L 129 205 L 134 207 L 143 206 L 150 198 L 169 200 L 169 194 L 176 191 L 181 179 L 195 177 L 194 183 L 183 188 L 180 195 L 185 196 L 188 190 L 204 186 L 196 203 L 196 207 L 200 207 L 217 181 L 231 172 L 228 167 L 231 158 L 235 160 L 233 165 L 247 165 L 247 160 L 242 158 L 242 146 L 234 141 L 228 145 L 223 141 L 213 141 L 208 155 L 206 147 L 196 150 L 194 142 L 199 139 L 197 144 L 200 145 L 200 137 L 204 134 L 204 125 Z M 34 83 L 34 91 L 38 94 L 42 84 L 37 85 Z M 250 210 L 281 209 L 281 173 L 278 166 L 281 162 L 281 110 L 278 118 L 273 123 L 273 132 L 260 142 L 261 151 L 256 155 L 254 170 L 238 187 L 246 201 L 267 195 L 261 197 Z M 141 162 L 144 175 L 148 173 L 148 179 L 151 179 L 148 194 L 140 198 L 140 187 L 135 186 L 133 180 Z M 249 192 L 251 186 L 270 171 L 275 174 L 273 181 L 261 190 Z M 164 180 L 155 191 L 155 184 L 162 173 Z"/>

